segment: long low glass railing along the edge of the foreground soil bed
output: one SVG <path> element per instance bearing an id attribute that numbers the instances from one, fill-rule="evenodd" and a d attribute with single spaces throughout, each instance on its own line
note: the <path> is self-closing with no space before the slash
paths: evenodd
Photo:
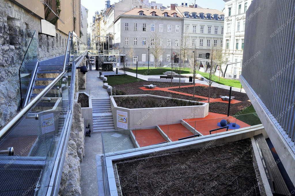
<path id="1" fill-rule="evenodd" d="M 158 126 L 122 129 L 102 132 L 104 153 L 134 151 L 154 145 L 168 145 L 187 140 L 196 140 L 212 135 L 222 135 L 260 125 L 256 113 L 219 118 L 189 118 L 160 122 Z"/>

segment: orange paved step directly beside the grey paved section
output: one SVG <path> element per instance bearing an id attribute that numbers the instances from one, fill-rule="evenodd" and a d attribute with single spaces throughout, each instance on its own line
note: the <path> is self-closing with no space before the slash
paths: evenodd
<path id="1" fill-rule="evenodd" d="M 132 133 L 140 147 L 150 146 L 166 141 L 157 129 L 132 130 Z"/>

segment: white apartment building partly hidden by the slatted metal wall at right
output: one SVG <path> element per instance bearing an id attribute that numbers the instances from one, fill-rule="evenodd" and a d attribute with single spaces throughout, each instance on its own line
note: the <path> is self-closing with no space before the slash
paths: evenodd
<path id="1" fill-rule="evenodd" d="M 227 78 L 239 78 L 242 72 L 243 50 L 245 43 L 246 12 L 252 0 L 224 0 L 224 37 L 223 53 L 227 67 Z M 235 63 L 237 62 L 237 63 Z"/>

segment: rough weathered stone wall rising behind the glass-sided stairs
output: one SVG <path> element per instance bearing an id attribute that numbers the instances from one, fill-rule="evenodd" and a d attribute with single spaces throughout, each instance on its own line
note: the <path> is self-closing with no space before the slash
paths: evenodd
<path id="1" fill-rule="evenodd" d="M 37 57 L 63 55 L 68 35 L 40 33 L 40 19 L 8 0 L 0 0 L 0 127 L 20 109 L 19 67 L 36 30 Z"/>

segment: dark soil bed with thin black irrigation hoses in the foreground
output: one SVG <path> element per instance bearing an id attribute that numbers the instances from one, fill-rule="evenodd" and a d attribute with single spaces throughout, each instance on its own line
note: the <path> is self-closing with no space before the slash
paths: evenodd
<path id="1" fill-rule="evenodd" d="M 119 192 L 126 196 L 265 195 L 259 189 L 260 174 L 256 174 L 252 155 L 251 141 L 246 139 L 207 149 L 120 160 L 114 166 L 119 174 Z"/>

